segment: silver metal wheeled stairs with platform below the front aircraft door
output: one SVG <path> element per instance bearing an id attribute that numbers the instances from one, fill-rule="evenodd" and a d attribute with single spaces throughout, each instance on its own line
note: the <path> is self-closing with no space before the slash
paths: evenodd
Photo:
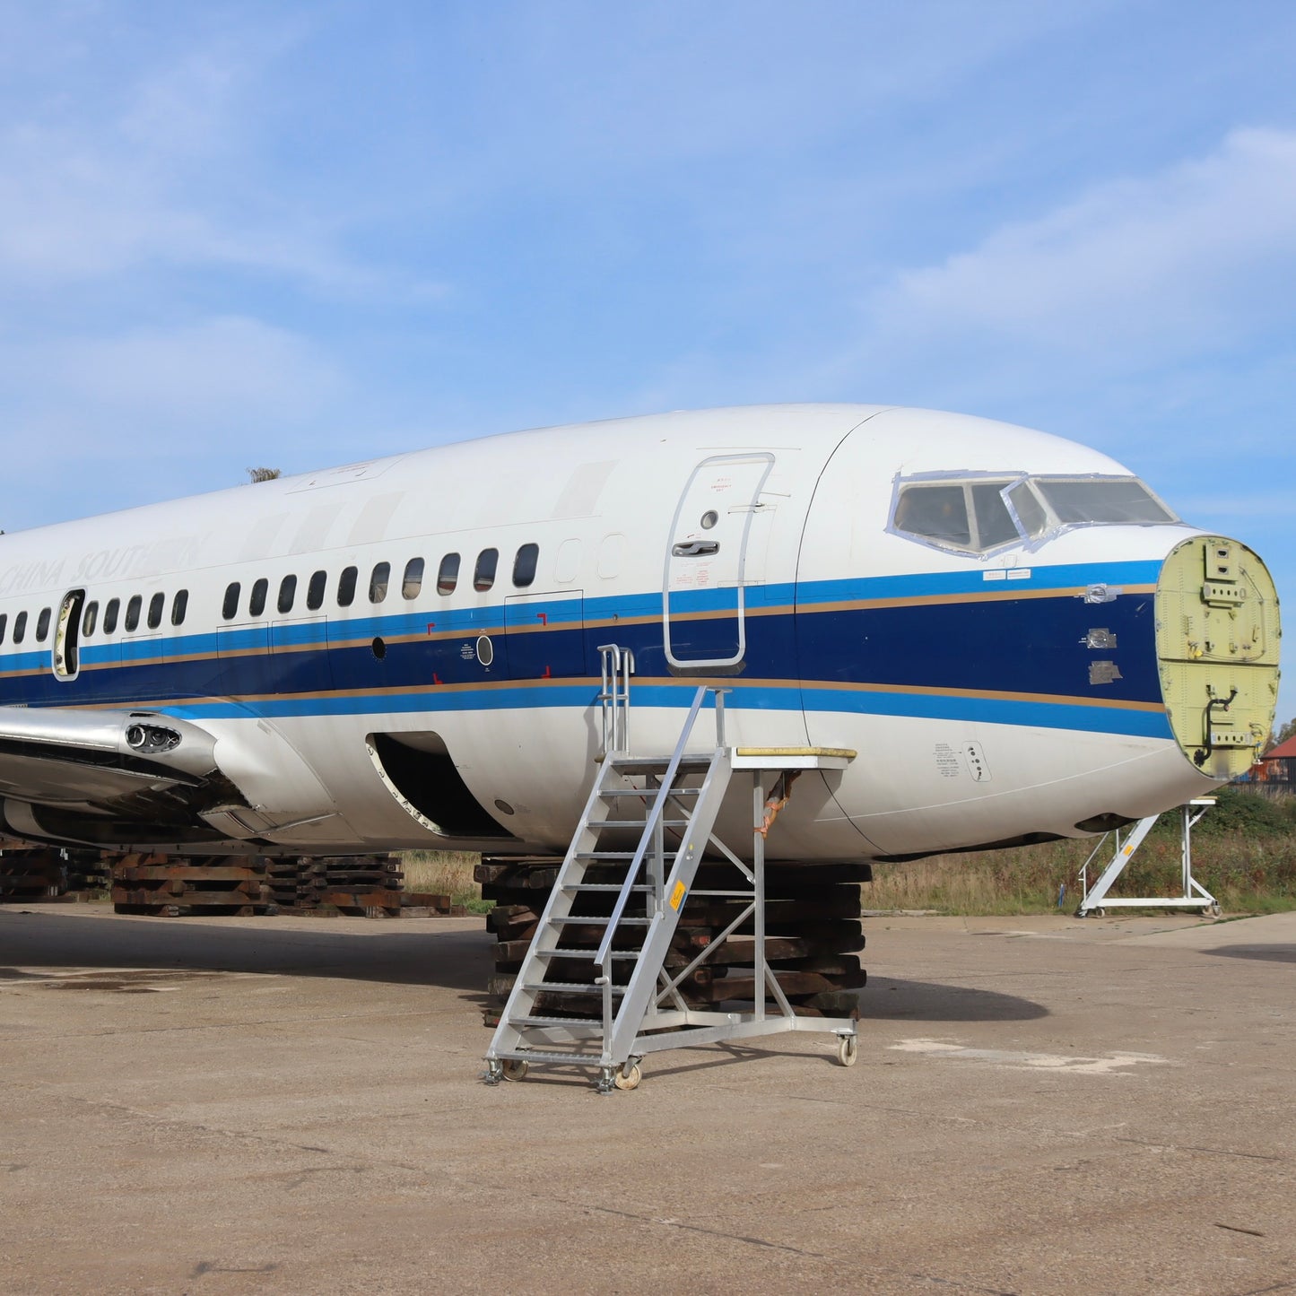
<path id="1" fill-rule="evenodd" d="M 632 669 L 632 666 L 630 666 Z M 625 687 L 618 682 L 625 675 Z M 851 1019 L 798 1017 L 765 963 L 763 831 L 754 833 L 752 866 L 713 836 L 715 818 L 736 770 L 753 772 L 756 805 L 765 778 L 780 763 L 772 753 L 743 757 L 724 745 L 723 689 L 701 687 L 669 757 L 617 749 L 627 731 L 617 708 L 629 702 L 629 671 L 618 662 L 609 693 L 605 671 L 605 735 L 610 737 L 548 905 L 522 960 L 486 1054 L 485 1080 L 521 1080 L 537 1064 L 597 1070 L 600 1093 L 634 1089 L 645 1052 L 779 1030 L 839 1036 L 839 1059 L 855 1060 Z M 714 693 L 715 745 L 688 752 L 699 713 Z M 607 700 L 612 696 L 612 719 Z M 805 753 L 798 753 L 805 758 Z M 853 756 L 850 753 L 849 756 Z M 849 757 L 846 757 L 849 758 Z M 789 758 L 791 761 L 791 758 Z M 804 767 L 793 762 L 792 767 Z M 759 822 L 759 820 L 758 820 Z M 666 956 L 704 854 L 718 851 L 741 874 L 737 889 L 699 890 L 699 897 L 745 901 L 713 942 L 718 947 L 752 919 L 756 931 L 756 1001 L 750 1013 L 691 1008 L 680 982 L 708 951 L 667 973 Z M 765 1003 L 766 991 L 775 1001 Z"/>

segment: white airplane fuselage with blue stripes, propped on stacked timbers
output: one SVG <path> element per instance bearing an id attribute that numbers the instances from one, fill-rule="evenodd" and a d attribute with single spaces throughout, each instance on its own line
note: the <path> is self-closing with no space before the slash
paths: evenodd
<path id="1" fill-rule="evenodd" d="M 857 753 L 797 780 L 771 854 L 1082 836 L 1249 763 L 1279 635 L 1258 557 L 1107 456 L 868 406 L 516 433 L 6 535 L 0 617 L 10 832 L 318 854 L 564 846 L 609 644 L 639 750 L 714 683 L 735 745 Z M 135 713 L 175 743 L 109 769 L 83 727 Z"/>

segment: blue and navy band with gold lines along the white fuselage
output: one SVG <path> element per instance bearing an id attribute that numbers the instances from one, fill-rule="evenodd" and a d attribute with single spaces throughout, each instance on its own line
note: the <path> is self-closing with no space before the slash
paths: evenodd
<path id="1" fill-rule="evenodd" d="M 804 683 L 810 709 L 1160 736 L 1169 734 L 1160 712 L 1104 705 L 1160 705 L 1152 595 L 1128 594 L 1105 604 L 1074 596 L 1089 584 L 1147 586 L 1159 570 L 1155 561 L 1077 564 L 1032 569 L 1011 583 L 985 581 L 976 570 L 807 582 L 800 590 L 756 587 L 748 591 L 756 614 L 746 619 L 746 657 L 726 683 L 735 686 L 739 706 L 797 710 Z M 673 595 L 675 654 L 732 652 L 736 619 L 723 613 L 732 612 L 734 597 L 732 590 L 691 591 L 678 601 Z M 539 629 L 531 627 L 530 603 L 509 605 L 509 623 L 527 626 L 516 635 L 502 632 L 505 609 L 496 604 L 88 642 L 74 680 L 52 675 L 48 649 L 26 651 L 0 660 L 6 671 L 32 671 L 0 677 L 0 702 L 163 701 L 168 710 L 194 715 L 587 706 L 586 684 L 531 686 L 526 679 L 588 677 L 597 669 L 597 645 L 612 640 L 635 651 L 640 677 L 673 674 L 662 648 L 660 594 L 587 597 L 583 627 L 574 619 L 577 600 L 546 595 L 535 607 L 547 617 Z M 1087 647 L 1089 630 L 1098 627 L 1115 638 L 1117 649 L 1095 653 Z M 481 634 L 496 636 L 491 667 L 470 651 Z M 381 660 L 371 648 L 378 638 L 385 642 Z M 511 648 L 526 679 L 511 680 Z M 1121 678 L 1090 684 L 1095 658 L 1112 661 Z M 744 677 L 753 683 L 744 684 Z M 652 705 L 645 693 L 651 686 L 636 687 L 636 700 Z M 678 689 L 666 687 L 662 697 L 662 705 L 674 705 Z"/>

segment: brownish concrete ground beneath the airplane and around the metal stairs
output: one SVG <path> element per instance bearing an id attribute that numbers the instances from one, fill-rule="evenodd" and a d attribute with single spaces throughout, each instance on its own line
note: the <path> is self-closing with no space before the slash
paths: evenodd
<path id="1" fill-rule="evenodd" d="M 1296 915 L 870 919 L 831 1037 L 487 1089 L 480 919 L 0 910 L 0 1291 L 1296 1291 Z"/>

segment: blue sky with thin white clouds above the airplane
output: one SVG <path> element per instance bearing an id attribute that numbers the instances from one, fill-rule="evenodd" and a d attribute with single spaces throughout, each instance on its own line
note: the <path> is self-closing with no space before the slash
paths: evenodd
<path id="1" fill-rule="evenodd" d="M 1296 608 L 1290 0 L 0 19 L 9 530 L 253 464 L 897 402 L 1115 454 Z"/>

